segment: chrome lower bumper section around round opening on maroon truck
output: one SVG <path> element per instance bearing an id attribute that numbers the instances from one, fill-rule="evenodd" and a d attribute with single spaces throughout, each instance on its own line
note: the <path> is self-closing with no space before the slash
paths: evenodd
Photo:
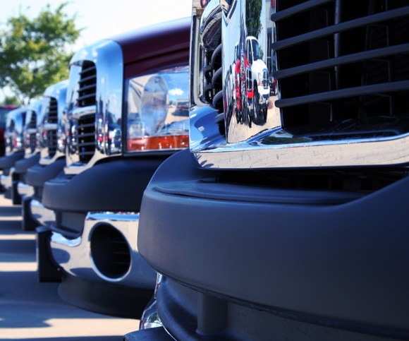
<path id="1" fill-rule="evenodd" d="M 67 239 L 56 232 L 51 234 L 51 253 L 56 263 L 71 275 L 96 282 L 116 282 L 128 287 L 151 289 L 155 284 L 156 273 L 138 252 L 138 225 L 138 213 L 89 213 L 82 237 Z M 119 276 L 104 274 L 94 261 L 93 252 L 109 253 L 109 249 L 102 251 L 100 247 L 92 246 L 101 240 L 98 239 L 100 232 L 106 228 L 109 232 L 121 235 L 130 251 L 129 268 Z"/>

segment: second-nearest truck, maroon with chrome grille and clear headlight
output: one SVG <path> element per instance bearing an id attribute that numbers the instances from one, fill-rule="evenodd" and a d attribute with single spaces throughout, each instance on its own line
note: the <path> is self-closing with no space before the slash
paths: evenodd
<path id="1" fill-rule="evenodd" d="M 44 184 L 39 279 L 82 309 L 138 318 L 156 273 L 137 246 L 142 193 L 188 146 L 190 20 L 95 42 L 70 63 L 63 172 Z M 44 265 L 44 266 L 43 266 Z M 52 269 L 54 265 L 54 270 Z"/>

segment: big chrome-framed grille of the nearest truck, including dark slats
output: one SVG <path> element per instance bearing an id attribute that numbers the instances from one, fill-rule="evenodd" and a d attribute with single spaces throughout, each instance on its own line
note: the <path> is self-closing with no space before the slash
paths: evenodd
<path id="1" fill-rule="evenodd" d="M 236 100 L 228 90 L 233 88 L 228 85 L 236 41 L 233 35 L 248 37 L 243 33 L 248 28 L 240 25 L 244 20 L 235 17 L 237 13 L 245 15 L 245 0 L 233 1 L 233 10 L 224 5 L 225 135 L 214 124 L 218 112 L 197 100 L 199 87 L 193 88 L 191 96 L 190 149 L 202 167 L 408 164 L 409 6 L 405 1 L 386 0 L 346 7 L 349 2 L 275 1 L 273 8 L 271 1 L 263 1 L 265 17 L 261 15 L 260 21 L 264 32 L 271 28 L 271 35 L 258 37 L 269 71 L 265 121 L 250 114 L 247 120 L 247 115 L 233 119 L 235 112 L 228 109 Z M 206 10 L 202 17 L 200 11 L 194 12 L 192 49 L 196 52 L 207 30 L 199 25 L 206 23 Z M 310 27 L 305 23 L 323 24 Z M 344 41 L 353 41 L 354 35 L 361 43 L 349 47 Z M 198 83 L 202 69 L 199 56 L 193 57 L 191 66 L 193 81 Z M 360 68 L 362 73 L 354 77 Z M 245 94 L 243 88 L 239 93 Z M 243 98 L 251 111 L 257 102 L 246 95 Z M 263 104 L 260 98 L 258 104 Z"/>

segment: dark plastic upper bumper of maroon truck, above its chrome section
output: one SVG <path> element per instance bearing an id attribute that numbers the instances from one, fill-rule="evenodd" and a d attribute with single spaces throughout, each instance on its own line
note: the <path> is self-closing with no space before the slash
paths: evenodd
<path id="1" fill-rule="evenodd" d="M 56 213 L 56 232 L 78 237 L 88 212 L 139 212 L 142 193 L 164 157 L 108 160 L 46 181 L 42 204 Z"/>

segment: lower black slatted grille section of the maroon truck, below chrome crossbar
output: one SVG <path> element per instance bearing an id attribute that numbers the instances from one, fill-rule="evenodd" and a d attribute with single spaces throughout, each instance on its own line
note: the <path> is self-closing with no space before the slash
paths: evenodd
<path id="1" fill-rule="evenodd" d="M 80 162 L 86 163 L 95 152 L 95 114 L 84 115 L 78 119 L 77 137 Z"/>

